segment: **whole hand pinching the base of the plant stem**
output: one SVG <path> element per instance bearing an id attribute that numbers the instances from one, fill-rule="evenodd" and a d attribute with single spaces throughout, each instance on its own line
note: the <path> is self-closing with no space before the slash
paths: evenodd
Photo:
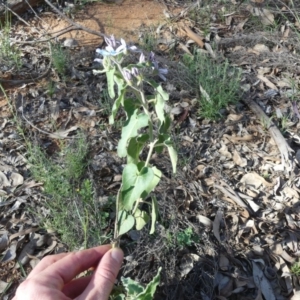
<path id="1" fill-rule="evenodd" d="M 46 256 L 20 284 L 13 300 L 107 300 L 122 261 L 122 250 L 110 245 Z M 93 275 L 74 279 L 92 267 Z"/>

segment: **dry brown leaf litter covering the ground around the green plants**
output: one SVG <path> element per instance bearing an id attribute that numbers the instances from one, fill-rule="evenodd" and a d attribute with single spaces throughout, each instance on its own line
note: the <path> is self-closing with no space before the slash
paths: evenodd
<path id="1" fill-rule="evenodd" d="M 170 69 L 166 109 L 173 116 L 173 134 L 184 160 L 174 177 L 164 155 L 153 157 L 164 174 L 155 191 L 161 224 L 154 237 L 132 231 L 122 245 L 123 276 L 148 282 L 163 266 L 156 299 L 299 299 L 299 277 L 291 273 L 291 266 L 300 255 L 299 112 L 292 84 L 293 80 L 299 85 L 295 30 L 300 26 L 288 1 L 246 2 L 231 1 L 238 6 L 224 10 L 223 20 L 217 14 L 222 5 L 210 4 L 208 34 L 188 14 L 201 7 L 201 1 L 164 2 L 168 19 L 156 29 L 157 51 Z M 180 7 L 179 13 L 172 13 L 173 5 Z M 295 13 L 296 9 L 300 7 Z M 289 21 L 280 20 L 274 32 L 262 30 L 282 12 Z M 253 24 L 253 17 L 259 25 Z M 13 30 L 13 42 L 28 67 L 17 79 L 46 72 L 47 44 L 24 43 L 42 39 L 42 34 L 23 25 Z M 120 184 L 120 132 L 107 125 L 109 112 L 99 103 L 106 82 L 104 76 L 92 75 L 94 48 L 78 47 L 76 40 L 65 44 L 70 45 L 68 80 L 52 69 L 39 83 L 3 84 L 9 102 L 1 97 L 0 293 L 11 285 L 5 299 L 12 298 L 24 277 L 21 266 L 28 273 L 45 255 L 67 250 L 30 212 L 47 217 L 43 203 L 49 198 L 42 182 L 32 179 L 26 144 L 11 110 L 27 137 L 50 156 L 59 151 L 59 141 L 69 143 L 79 128 L 84 129 L 90 145 L 89 172 L 99 199 L 116 192 Z M 221 122 L 199 118 L 197 95 L 182 79 L 182 68 L 168 59 L 169 52 L 176 53 L 176 59 L 192 54 L 193 48 L 212 59 L 226 57 L 242 69 L 241 101 L 227 107 Z M 15 79 L 3 66 L 0 71 L 1 78 Z M 50 78 L 56 83 L 52 97 L 45 88 Z M 172 234 L 188 227 L 198 242 L 174 246 Z"/>

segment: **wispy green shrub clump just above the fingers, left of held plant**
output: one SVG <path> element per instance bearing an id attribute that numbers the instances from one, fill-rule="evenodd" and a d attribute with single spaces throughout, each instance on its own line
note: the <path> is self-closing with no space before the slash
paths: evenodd
<path id="1" fill-rule="evenodd" d="M 92 182 L 84 178 L 88 165 L 88 143 L 83 134 L 61 145 L 56 157 L 48 157 L 39 147 L 29 147 L 31 173 L 43 183 L 43 205 L 49 211 L 42 223 L 56 232 L 70 249 L 88 248 L 107 241 L 103 234 L 109 213 L 94 197 Z"/>

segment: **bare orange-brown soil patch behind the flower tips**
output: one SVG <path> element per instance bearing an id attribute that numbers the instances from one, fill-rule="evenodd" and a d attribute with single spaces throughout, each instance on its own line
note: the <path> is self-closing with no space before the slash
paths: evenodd
<path id="1" fill-rule="evenodd" d="M 76 14 L 75 21 L 80 25 L 116 38 L 124 38 L 128 42 L 139 39 L 141 27 L 157 27 L 164 19 L 165 6 L 156 1 L 124 0 L 121 4 L 92 3 Z M 49 32 L 65 29 L 68 23 L 51 15 L 42 16 Z M 80 46 L 98 46 L 99 38 L 84 31 L 72 31 L 61 38 L 74 38 Z"/>

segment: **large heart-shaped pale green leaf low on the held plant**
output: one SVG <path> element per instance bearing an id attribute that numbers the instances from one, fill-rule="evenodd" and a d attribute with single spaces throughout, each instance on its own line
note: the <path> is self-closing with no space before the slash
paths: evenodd
<path id="1" fill-rule="evenodd" d="M 141 194 L 152 186 L 153 179 L 154 172 L 152 168 L 143 167 L 139 171 L 135 164 L 126 165 L 122 175 L 122 208 L 128 211 L 131 210 Z"/>

